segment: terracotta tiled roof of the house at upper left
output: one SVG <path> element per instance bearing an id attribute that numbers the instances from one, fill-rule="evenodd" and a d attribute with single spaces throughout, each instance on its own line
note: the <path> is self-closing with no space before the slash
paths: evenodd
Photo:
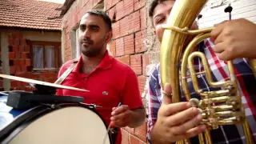
<path id="1" fill-rule="evenodd" d="M 0 0 L 0 26 L 61 30 L 61 4 L 37 0 Z"/>

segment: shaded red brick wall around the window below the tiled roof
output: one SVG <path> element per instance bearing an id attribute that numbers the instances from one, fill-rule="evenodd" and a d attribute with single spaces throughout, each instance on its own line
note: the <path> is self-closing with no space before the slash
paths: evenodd
<path id="1" fill-rule="evenodd" d="M 54 82 L 57 79 L 58 70 L 32 70 L 30 45 L 22 34 L 8 34 L 8 49 L 10 75 L 44 82 Z M 31 91 L 32 87 L 26 82 L 10 81 L 10 90 Z"/>

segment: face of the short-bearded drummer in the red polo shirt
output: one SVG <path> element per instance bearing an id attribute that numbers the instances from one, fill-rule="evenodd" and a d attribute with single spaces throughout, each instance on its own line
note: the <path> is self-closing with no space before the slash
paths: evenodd
<path id="1" fill-rule="evenodd" d="M 86 57 L 97 56 L 110 41 L 111 32 L 107 29 L 103 18 L 97 15 L 85 14 L 79 29 L 80 49 Z"/>

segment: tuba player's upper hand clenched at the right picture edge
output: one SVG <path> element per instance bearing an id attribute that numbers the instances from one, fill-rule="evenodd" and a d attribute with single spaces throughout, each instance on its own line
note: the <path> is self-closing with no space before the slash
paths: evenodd
<path id="1" fill-rule="evenodd" d="M 218 58 L 227 61 L 234 58 L 256 58 L 256 25 L 240 18 L 214 25 L 211 40 Z"/>

